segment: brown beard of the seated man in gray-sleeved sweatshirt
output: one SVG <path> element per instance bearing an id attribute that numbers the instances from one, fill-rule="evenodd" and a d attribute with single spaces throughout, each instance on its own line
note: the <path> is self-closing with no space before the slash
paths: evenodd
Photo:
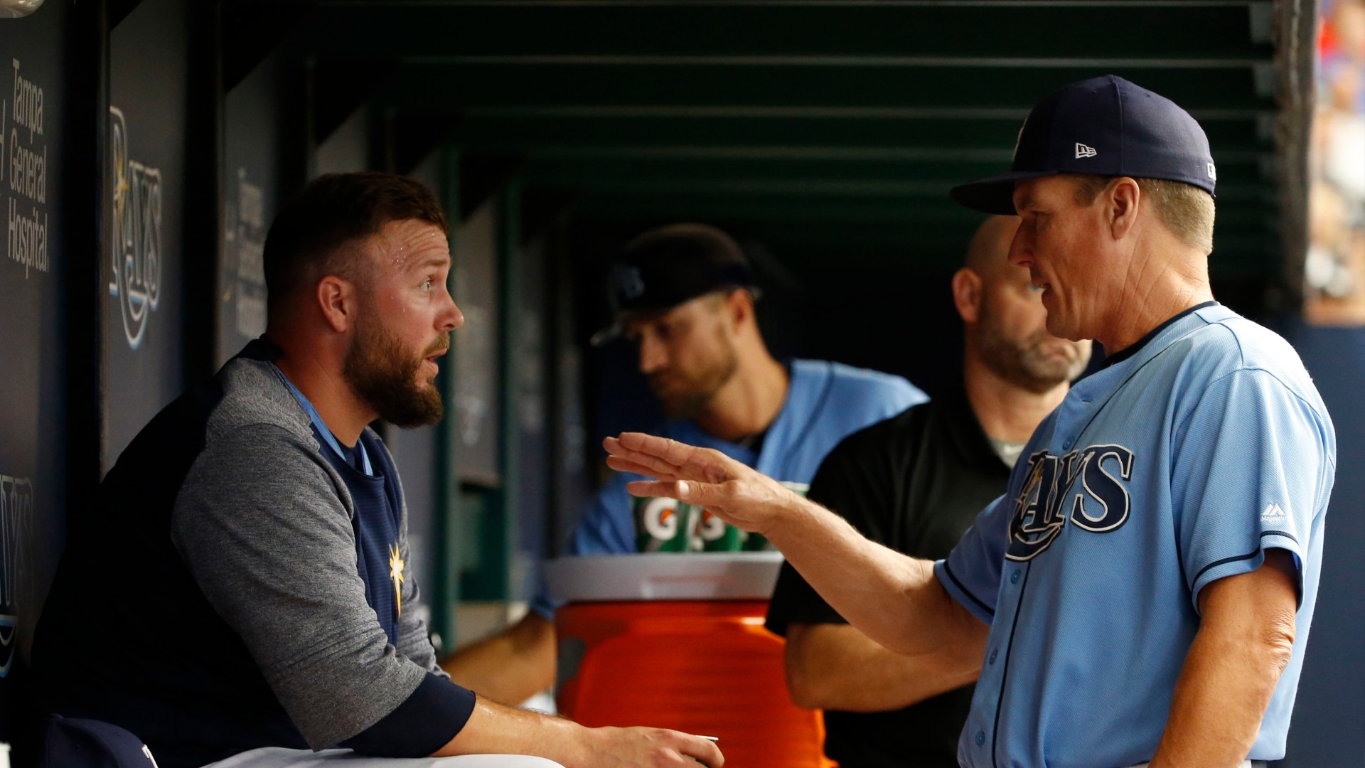
<path id="1" fill-rule="evenodd" d="M 445 415 L 441 392 L 431 383 L 420 383 L 418 372 L 427 355 L 449 346 L 449 338 L 442 338 L 422 355 L 411 357 L 397 336 L 378 323 L 362 321 L 341 374 L 389 424 L 403 429 L 435 424 Z"/>

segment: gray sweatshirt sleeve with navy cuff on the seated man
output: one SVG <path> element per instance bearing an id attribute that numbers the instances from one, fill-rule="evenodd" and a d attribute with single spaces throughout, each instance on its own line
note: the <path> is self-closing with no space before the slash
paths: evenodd
<path id="1" fill-rule="evenodd" d="M 339 485 L 311 440 L 238 428 L 190 469 L 171 536 L 313 749 L 375 728 L 364 752 L 426 756 L 460 731 L 474 694 L 388 642 L 364 599 Z M 404 707 L 410 698 L 422 705 Z M 405 735 L 388 737 L 400 708 Z"/>

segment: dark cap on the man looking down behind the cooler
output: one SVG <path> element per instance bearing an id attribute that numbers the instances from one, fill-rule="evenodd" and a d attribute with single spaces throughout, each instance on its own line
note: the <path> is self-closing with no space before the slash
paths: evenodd
<path id="1" fill-rule="evenodd" d="M 698 297 L 758 284 L 733 238 L 707 224 L 669 224 L 643 232 L 625 246 L 607 276 L 612 325 L 592 335 L 592 346 L 621 336 L 632 313 L 663 312 Z"/>

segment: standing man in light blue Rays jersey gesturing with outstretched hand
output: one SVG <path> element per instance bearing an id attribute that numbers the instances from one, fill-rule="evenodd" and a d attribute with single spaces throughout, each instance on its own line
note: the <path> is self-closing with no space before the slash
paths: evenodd
<path id="1" fill-rule="evenodd" d="M 1044 98 L 1009 174 L 1047 328 L 1107 366 L 1039 425 L 947 559 L 898 555 L 728 458 L 644 435 L 609 463 L 767 536 L 845 618 L 980 670 L 969 768 L 1235 768 L 1284 756 L 1336 444 L 1294 350 L 1213 301 L 1203 128 L 1115 77 Z"/>

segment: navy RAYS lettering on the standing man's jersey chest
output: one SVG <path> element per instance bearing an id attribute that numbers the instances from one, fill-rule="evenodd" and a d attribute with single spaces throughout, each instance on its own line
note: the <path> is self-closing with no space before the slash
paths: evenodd
<path id="1" fill-rule="evenodd" d="M 1133 451 L 1122 445 L 1091 445 L 1065 456 L 1037 452 L 1014 502 L 1010 560 L 1032 560 L 1072 522 L 1092 533 L 1117 530 L 1132 507 L 1125 484 L 1133 477 Z"/>

